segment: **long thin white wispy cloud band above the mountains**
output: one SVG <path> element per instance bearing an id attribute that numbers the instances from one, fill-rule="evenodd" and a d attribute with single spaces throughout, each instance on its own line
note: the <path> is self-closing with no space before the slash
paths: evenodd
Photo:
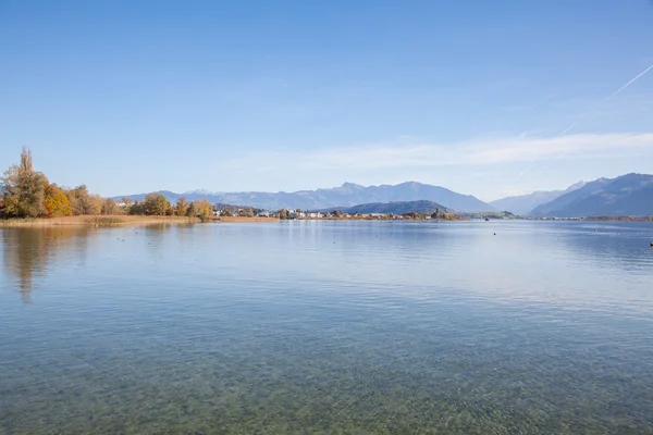
<path id="1" fill-rule="evenodd" d="M 569 128 L 570 129 L 570 128 Z M 588 159 L 653 151 L 653 133 L 503 137 L 454 144 L 369 145 L 304 151 L 261 151 L 223 162 L 303 172 L 491 165 L 538 160 Z"/>

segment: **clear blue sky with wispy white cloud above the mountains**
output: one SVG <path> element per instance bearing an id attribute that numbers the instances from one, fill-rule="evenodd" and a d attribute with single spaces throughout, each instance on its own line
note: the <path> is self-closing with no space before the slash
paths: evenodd
<path id="1" fill-rule="evenodd" d="M 0 167 L 493 200 L 653 173 L 652 65 L 650 0 L 0 0 Z"/>

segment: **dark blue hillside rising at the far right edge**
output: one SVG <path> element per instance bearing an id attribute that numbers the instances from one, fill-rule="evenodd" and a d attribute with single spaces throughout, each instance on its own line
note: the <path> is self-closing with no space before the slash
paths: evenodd
<path id="1" fill-rule="evenodd" d="M 599 178 L 580 189 L 537 207 L 533 216 L 601 216 L 653 214 L 653 175 Z"/>

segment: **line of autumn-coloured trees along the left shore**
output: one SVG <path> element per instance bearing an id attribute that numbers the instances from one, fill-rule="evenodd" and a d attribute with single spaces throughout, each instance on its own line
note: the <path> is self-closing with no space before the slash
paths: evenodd
<path id="1" fill-rule="evenodd" d="M 90 194 L 85 185 L 64 188 L 50 183 L 42 173 L 34 170 L 32 151 L 23 147 L 21 161 L 4 172 L 0 199 L 0 217 L 61 217 L 94 214 L 143 214 L 177 215 L 200 217 L 213 214 L 206 200 L 188 202 L 180 198 L 173 207 L 161 194 L 150 194 L 144 201 L 132 202 L 128 198 L 123 206 L 109 198 Z"/>

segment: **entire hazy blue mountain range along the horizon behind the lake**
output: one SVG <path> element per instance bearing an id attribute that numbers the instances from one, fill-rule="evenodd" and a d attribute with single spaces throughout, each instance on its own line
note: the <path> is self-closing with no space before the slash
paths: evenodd
<path id="1" fill-rule="evenodd" d="M 261 191 L 212 192 L 208 190 L 193 190 L 185 194 L 162 190 L 160 194 L 171 202 L 176 202 L 183 196 L 188 201 L 207 199 L 211 203 L 231 203 L 266 210 L 340 209 L 344 211 L 357 206 L 360 209 L 356 211 L 383 213 L 387 203 L 394 202 L 393 207 L 396 209 L 396 202 L 432 201 L 441 210 L 451 209 L 468 213 L 508 211 L 517 215 L 535 217 L 653 215 L 653 175 L 646 174 L 626 174 L 616 178 L 599 178 L 590 183 L 579 182 L 565 190 L 535 191 L 531 195 L 503 198 L 490 203 L 471 195 L 461 195 L 444 187 L 417 182 L 369 187 L 345 183 L 340 187 L 329 189 L 275 194 Z M 132 200 L 143 200 L 146 195 L 126 197 Z M 125 197 L 112 199 L 120 200 L 122 198 Z M 430 210 L 416 210 L 416 206 L 409 206 L 410 211 L 427 212 Z M 397 211 L 391 212 L 396 213 Z"/>

